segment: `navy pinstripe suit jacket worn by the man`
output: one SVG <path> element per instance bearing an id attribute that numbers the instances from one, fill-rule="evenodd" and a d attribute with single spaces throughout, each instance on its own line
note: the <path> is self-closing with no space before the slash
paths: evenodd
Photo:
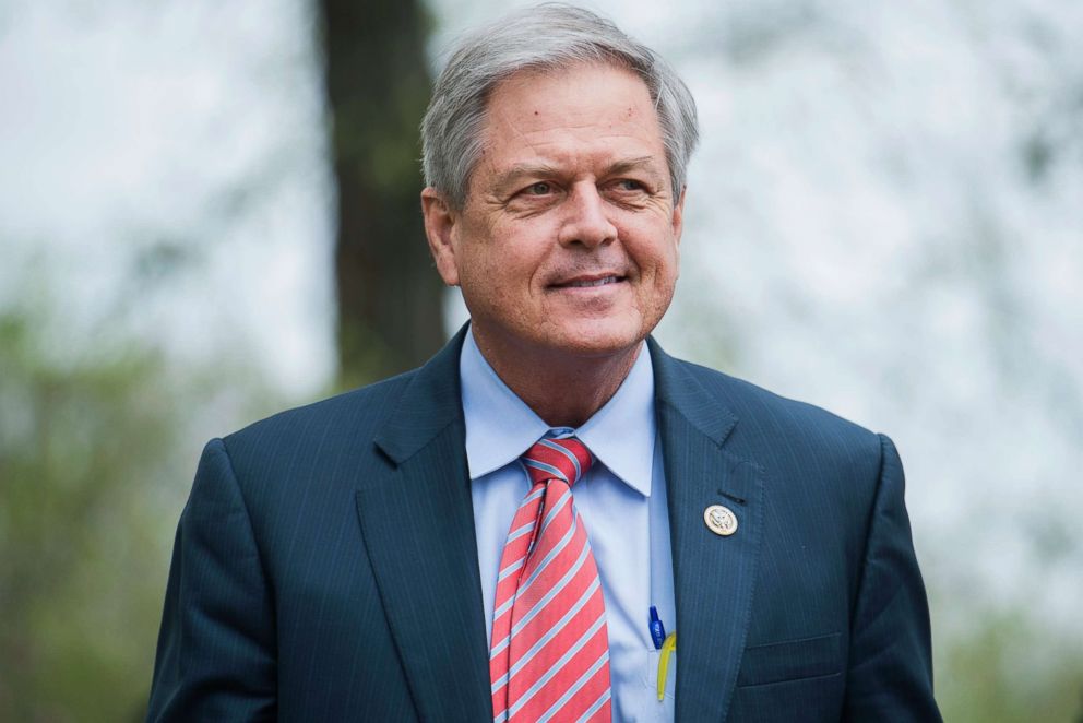
<path id="1" fill-rule="evenodd" d="M 462 336 L 418 370 L 207 445 L 148 720 L 491 720 Z M 677 720 L 940 720 L 891 441 L 650 349 Z M 712 503 L 736 534 L 704 525 Z"/>

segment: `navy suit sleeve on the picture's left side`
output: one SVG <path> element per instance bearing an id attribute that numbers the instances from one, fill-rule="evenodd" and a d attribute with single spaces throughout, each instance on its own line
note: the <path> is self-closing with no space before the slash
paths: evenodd
<path id="1" fill-rule="evenodd" d="M 274 640 L 251 519 L 215 439 L 177 529 L 146 720 L 273 720 Z"/>

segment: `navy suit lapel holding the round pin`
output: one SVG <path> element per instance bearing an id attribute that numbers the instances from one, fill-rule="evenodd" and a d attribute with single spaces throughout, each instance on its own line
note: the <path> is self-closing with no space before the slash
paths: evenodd
<path id="1" fill-rule="evenodd" d="M 761 470 L 726 450 L 737 424 L 717 395 L 651 340 L 669 497 L 677 604 L 678 721 L 724 720 L 748 633 L 763 514 Z M 728 537 L 703 513 L 729 508 Z"/>

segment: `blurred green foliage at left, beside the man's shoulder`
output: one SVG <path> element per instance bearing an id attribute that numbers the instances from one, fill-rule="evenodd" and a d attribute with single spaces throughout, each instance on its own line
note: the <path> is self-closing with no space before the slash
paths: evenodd
<path id="1" fill-rule="evenodd" d="M 0 720 L 139 720 L 194 420 L 222 406 L 223 379 L 241 406 L 257 392 L 133 340 L 58 345 L 61 325 L 0 311 Z"/>

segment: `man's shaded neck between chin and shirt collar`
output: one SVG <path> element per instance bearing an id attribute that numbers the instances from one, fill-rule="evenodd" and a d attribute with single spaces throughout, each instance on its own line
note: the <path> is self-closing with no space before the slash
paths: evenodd
<path id="1" fill-rule="evenodd" d="M 620 389 L 643 342 L 605 356 L 531 353 L 509 358 L 475 335 L 478 349 L 500 380 L 550 427 L 579 427 Z M 559 390 L 559 391 L 555 391 Z"/>

